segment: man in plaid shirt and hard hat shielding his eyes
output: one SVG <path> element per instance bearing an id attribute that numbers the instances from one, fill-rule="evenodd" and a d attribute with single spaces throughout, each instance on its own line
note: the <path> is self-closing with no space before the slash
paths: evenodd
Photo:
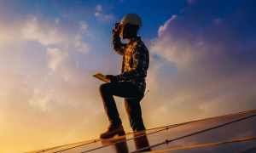
<path id="1" fill-rule="evenodd" d="M 121 23 L 114 26 L 113 49 L 123 56 L 122 71 L 117 76 L 107 75 L 110 82 L 100 87 L 104 109 L 110 122 L 108 130 L 101 134 L 101 139 L 125 134 L 113 95 L 125 98 L 125 110 L 133 131 L 145 130 L 140 101 L 146 88 L 149 56 L 141 37 L 137 36 L 141 26 L 142 20 L 137 14 L 126 14 Z M 122 43 L 120 37 L 127 39 L 128 43 Z"/>

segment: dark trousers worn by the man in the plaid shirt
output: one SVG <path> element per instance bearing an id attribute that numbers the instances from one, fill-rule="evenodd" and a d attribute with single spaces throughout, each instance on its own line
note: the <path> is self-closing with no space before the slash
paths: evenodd
<path id="1" fill-rule="evenodd" d="M 104 83 L 100 86 L 100 94 L 110 124 L 119 125 L 122 123 L 113 99 L 114 95 L 125 98 L 125 110 L 133 131 L 145 129 L 140 105 L 140 101 L 143 99 L 143 92 L 131 82 Z"/>

